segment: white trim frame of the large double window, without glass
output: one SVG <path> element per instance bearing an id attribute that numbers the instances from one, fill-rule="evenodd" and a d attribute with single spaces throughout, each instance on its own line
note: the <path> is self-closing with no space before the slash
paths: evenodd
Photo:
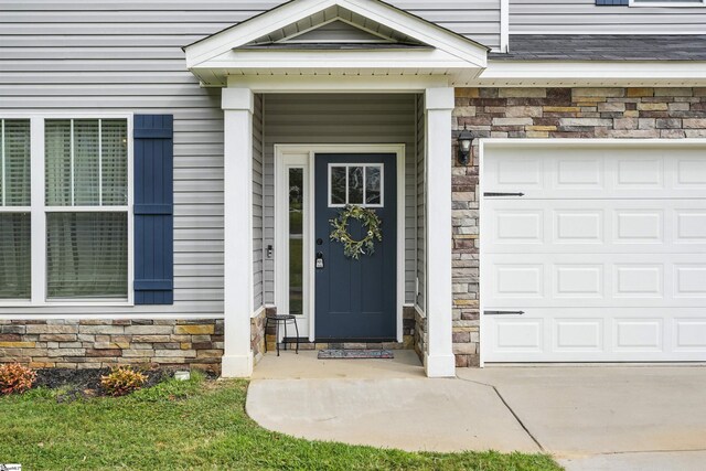
<path id="1" fill-rule="evenodd" d="M 133 146 L 132 146 L 132 120 L 133 115 L 131 113 L 3 113 L 0 119 L 29 119 L 30 120 L 30 159 L 31 159 L 31 206 L 29 207 L 3 207 L 0 212 L 19 212 L 23 210 L 30 212 L 31 218 L 31 299 L 29 300 L 0 300 L 0 309 L 2 308 L 36 308 L 36 307 L 132 307 L 135 300 L 133 280 L 135 280 L 135 235 L 133 228 Z M 124 206 L 46 206 L 45 202 L 45 136 L 44 125 L 46 120 L 51 119 L 69 119 L 72 122 L 71 132 L 71 153 L 72 153 L 72 168 L 73 168 L 73 122 L 76 119 L 125 119 L 126 132 L 127 132 L 127 184 L 128 184 L 128 201 Z M 100 136 L 100 128 L 98 135 Z M 99 137 L 100 139 L 100 137 Z M 101 156 L 100 156 L 101 158 Z M 74 200 L 74 184 L 73 184 L 73 169 L 72 169 L 72 203 Z M 103 179 L 103 175 L 100 175 Z M 127 232 L 128 232 L 128 260 L 127 260 L 127 297 L 125 299 L 47 299 L 46 297 L 46 214 L 47 213 L 126 213 L 127 215 Z M 1 317 L 2 314 L 0 314 Z M 32 314 L 32 319 L 43 319 L 43 315 Z"/>

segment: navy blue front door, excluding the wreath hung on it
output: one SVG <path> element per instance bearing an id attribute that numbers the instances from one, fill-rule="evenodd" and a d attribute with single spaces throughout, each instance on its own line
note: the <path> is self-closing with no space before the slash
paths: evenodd
<path id="1" fill-rule="evenodd" d="M 315 338 L 321 341 L 396 339 L 397 182 L 395 154 L 315 156 Z M 375 211 L 383 240 L 372 255 L 346 257 L 330 239 L 330 220 L 346 204 Z M 364 237 L 351 220 L 349 234 Z"/>

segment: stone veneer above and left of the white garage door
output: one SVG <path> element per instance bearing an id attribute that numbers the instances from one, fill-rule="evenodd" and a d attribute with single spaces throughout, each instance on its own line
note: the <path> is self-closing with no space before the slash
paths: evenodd
<path id="1" fill-rule="evenodd" d="M 703 88 L 457 88 L 454 130 L 479 138 L 706 138 Z M 456 136 L 454 136 L 456 138 Z M 478 146 L 453 152 L 453 352 L 479 361 Z"/>

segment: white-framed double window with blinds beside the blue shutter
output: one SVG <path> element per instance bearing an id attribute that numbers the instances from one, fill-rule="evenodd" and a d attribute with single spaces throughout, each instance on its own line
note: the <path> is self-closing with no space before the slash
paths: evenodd
<path id="1" fill-rule="evenodd" d="M 128 153 L 127 118 L 0 119 L 0 300 L 128 301 Z"/>

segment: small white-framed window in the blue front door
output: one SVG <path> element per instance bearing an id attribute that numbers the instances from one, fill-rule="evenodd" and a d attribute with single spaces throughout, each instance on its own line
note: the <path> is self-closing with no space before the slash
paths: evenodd
<path id="1" fill-rule="evenodd" d="M 346 204 L 383 206 L 383 165 L 329 165 L 329 206 L 340 207 Z"/>

